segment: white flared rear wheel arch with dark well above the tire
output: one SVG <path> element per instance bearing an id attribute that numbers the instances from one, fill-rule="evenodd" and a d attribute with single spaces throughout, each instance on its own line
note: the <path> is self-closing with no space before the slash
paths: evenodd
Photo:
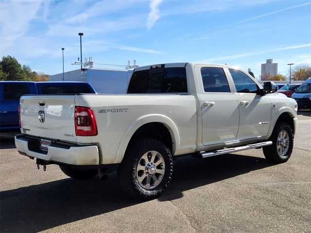
<path id="1" fill-rule="evenodd" d="M 136 138 L 143 137 L 141 135 L 162 141 L 172 154 L 180 147 L 178 129 L 172 119 L 163 115 L 142 116 L 124 133 L 114 163 L 121 163 L 128 145 Z"/>

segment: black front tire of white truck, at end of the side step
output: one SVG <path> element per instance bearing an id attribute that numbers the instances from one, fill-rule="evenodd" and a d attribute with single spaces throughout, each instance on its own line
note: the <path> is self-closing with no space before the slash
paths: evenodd
<path id="1" fill-rule="evenodd" d="M 286 150 L 284 149 L 285 152 L 280 149 L 280 147 L 282 147 L 281 141 L 284 139 L 282 138 L 282 132 L 285 134 L 285 138 L 288 138 L 288 140 L 283 140 L 288 141 L 288 143 L 285 143 L 286 146 L 283 147 L 285 149 L 288 147 Z M 277 164 L 285 163 L 291 157 L 294 146 L 294 134 L 290 125 L 285 122 L 277 122 L 269 140 L 272 141 L 273 144 L 262 148 L 266 159 Z M 280 150 L 283 154 L 280 153 Z"/>

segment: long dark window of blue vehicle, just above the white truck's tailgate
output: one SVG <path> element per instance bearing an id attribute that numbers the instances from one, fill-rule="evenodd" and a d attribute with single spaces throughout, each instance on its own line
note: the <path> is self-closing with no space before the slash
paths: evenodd
<path id="1" fill-rule="evenodd" d="M 44 85 L 41 87 L 42 94 L 79 94 L 79 93 L 94 93 L 88 86 L 74 85 Z"/>

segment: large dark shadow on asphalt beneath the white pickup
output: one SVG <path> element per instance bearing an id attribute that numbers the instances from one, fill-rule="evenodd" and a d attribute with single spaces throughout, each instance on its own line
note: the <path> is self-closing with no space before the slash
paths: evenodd
<path id="1" fill-rule="evenodd" d="M 273 166 L 267 160 L 239 154 L 208 159 L 179 158 L 174 176 L 159 201 L 183 197 L 182 192 L 250 171 Z M 70 222 L 134 206 L 142 201 L 121 192 L 116 172 L 106 182 L 63 179 L 0 194 L 0 232 L 39 232 Z"/>

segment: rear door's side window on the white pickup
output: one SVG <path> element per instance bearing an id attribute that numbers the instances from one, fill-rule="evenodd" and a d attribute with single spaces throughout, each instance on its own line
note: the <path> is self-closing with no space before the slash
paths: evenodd
<path id="1" fill-rule="evenodd" d="M 223 68 L 202 67 L 201 76 L 205 92 L 230 92 Z"/>

